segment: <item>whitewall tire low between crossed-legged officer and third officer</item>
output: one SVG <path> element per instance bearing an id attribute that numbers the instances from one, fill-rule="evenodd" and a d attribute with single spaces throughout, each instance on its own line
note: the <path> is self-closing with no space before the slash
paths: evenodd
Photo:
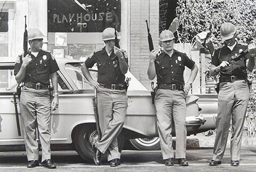
<path id="1" fill-rule="evenodd" d="M 160 149 L 159 137 L 135 138 L 130 140 L 131 144 L 141 151 L 153 151 Z"/>

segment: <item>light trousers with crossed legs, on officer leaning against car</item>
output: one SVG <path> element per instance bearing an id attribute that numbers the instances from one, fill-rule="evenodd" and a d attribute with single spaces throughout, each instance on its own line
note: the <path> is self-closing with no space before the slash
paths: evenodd
<path id="1" fill-rule="evenodd" d="M 101 140 L 95 146 L 107 153 L 108 161 L 120 159 L 117 136 L 121 133 L 127 110 L 126 90 L 99 88 L 97 90 Z"/>

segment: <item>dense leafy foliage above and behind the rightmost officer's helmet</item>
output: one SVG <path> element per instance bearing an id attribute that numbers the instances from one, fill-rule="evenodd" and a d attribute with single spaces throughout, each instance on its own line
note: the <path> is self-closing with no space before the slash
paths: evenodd
<path id="1" fill-rule="evenodd" d="M 219 37 L 223 22 L 237 27 L 239 42 L 246 43 L 255 38 L 255 0 L 179 0 L 176 8 L 180 19 L 179 33 L 182 42 L 191 42 L 199 32 L 209 30 Z"/>

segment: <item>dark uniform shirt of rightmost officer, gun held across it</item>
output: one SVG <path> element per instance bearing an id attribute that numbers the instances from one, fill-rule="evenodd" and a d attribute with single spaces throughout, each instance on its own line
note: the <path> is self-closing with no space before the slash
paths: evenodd
<path id="1" fill-rule="evenodd" d="M 218 67 L 222 61 L 228 61 L 232 56 L 235 56 L 236 54 L 241 53 L 242 51 L 245 51 L 247 46 L 241 45 L 237 43 L 235 47 L 233 48 L 233 51 L 230 50 L 230 48 L 227 47 L 227 45 L 218 48 L 213 56 L 212 56 L 212 64 Z M 227 67 L 221 69 L 220 74 L 221 76 L 241 76 L 241 73 L 243 77 L 247 78 L 246 74 L 246 60 L 250 57 L 249 54 L 245 55 L 245 58 L 242 58 L 241 60 L 234 61 L 230 63 Z"/>

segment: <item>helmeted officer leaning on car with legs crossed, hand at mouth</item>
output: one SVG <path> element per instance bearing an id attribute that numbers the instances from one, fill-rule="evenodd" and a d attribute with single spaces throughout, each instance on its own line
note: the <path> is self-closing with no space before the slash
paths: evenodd
<path id="1" fill-rule="evenodd" d="M 119 36 L 117 37 L 120 38 Z M 127 85 L 125 73 L 128 59 L 125 51 L 115 46 L 115 29 L 106 28 L 102 32 L 106 44 L 101 51 L 90 56 L 82 67 L 82 72 L 90 84 L 97 89 L 101 140 L 95 142 L 94 162 L 100 165 L 101 154 L 107 154 L 111 167 L 120 165 L 117 136 L 121 133 L 127 109 Z M 98 80 L 94 80 L 89 68 L 97 63 Z"/>

